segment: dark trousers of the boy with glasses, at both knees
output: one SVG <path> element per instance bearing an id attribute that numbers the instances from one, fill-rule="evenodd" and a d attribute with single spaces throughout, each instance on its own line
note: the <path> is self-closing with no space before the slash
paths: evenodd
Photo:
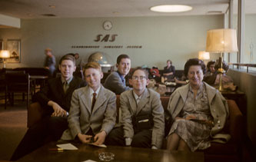
<path id="1" fill-rule="evenodd" d="M 151 130 L 135 131 L 135 135 L 131 141 L 131 147 L 151 148 L 151 136 Z M 105 139 L 105 144 L 125 146 L 124 129 L 122 127 L 116 127 L 110 131 Z"/>

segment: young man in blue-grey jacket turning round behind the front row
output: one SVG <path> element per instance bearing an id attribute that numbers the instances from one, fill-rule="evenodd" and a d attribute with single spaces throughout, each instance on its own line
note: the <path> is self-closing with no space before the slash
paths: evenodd
<path id="1" fill-rule="evenodd" d="M 121 94 L 121 92 L 131 89 L 125 84 L 125 76 L 131 68 L 131 59 L 128 55 L 122 54 L 118 56 L 116 63 L 118 71 L 114 71 L 108 75 L 104 87 L 113 91 L 115 94 Z"/>

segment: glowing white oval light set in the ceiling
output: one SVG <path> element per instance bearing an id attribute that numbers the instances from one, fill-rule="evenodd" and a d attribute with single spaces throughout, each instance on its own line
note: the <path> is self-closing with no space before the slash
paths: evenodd
<path id="1" fill-rule="evenodd" d="M 188 5 L 156 5 L 150 8 L 152 12 L 188 12 L 191 9 Z"/>

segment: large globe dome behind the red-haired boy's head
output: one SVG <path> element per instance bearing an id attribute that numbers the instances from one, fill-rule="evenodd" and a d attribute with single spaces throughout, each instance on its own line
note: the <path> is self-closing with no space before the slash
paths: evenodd
<path id="1" fill-rule="evenodd" d="M 101 67 L 111 67 L 114 65 L 111 57 L 103 52 L 95 52 L 88 58 L 88 62 L 95 61 L 101 64 Z"/>

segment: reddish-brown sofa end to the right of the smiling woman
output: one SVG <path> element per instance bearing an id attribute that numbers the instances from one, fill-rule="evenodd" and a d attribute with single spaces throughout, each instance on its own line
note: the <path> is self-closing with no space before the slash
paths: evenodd
<path id="1" fill-rule="evenodd" d="M 238 105 L 233 100 L 228 100 L 229 108 L 229 133 L 232 141 L 241 142 L 244 132 L 244 120 Z"/>

